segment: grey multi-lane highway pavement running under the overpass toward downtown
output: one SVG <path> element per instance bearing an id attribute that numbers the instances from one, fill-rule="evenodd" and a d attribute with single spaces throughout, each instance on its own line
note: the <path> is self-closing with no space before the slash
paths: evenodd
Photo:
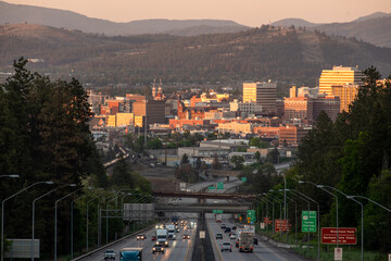
<path id="1" fill-rule="evenodd" d="M 192 191 L 200 191 L 202 188 L 209 187 L 216 182 L 224 182 L 223 179 L 216 179 L 212 182 L 205 182 L 195 184 L 191 187 L 189 187 Z M 234 179 L 229 183 L 225 183 L 224 189 L 220 190 L 212 190 L 213 192 L 226 192 L 227 190 L 231 191 L 235 190 L 235 187 L 239 186 L 241 184 L 240 181 Z M 223 203 L 227 202 L 225 200 L 206 200 L 207 203 Z M 168 204 L 189 204 L 197 202 L 197 199 L 193 198 L 176 198 L 176 199 L 166 199 L 165 203 Z M 172 215 L 178 215 L 182 219 L 187 219 L 190 223 L 191 221 L 197 223 L 198 221 L 198 214 L 197 213 L 166 213 L 167 217 L 171 217 Z M 238 226 L 240 227 L 240 224 L 234 224 L 232 223 L 232 216 L 228 214 L 223 214 L 223 223 L 225 223 L 227 226 Z M 212 247 L 214 248 L 215 257 L 217 260 L 262 260 L 262 261 L 303 261 L 305 259 L 294 254 L 291 250 L 283 249 L 283 248 L 277 248 L 273 246 L 272 244 L 262 240 L 261 237 L 258 238 L 258 245 L 254 246 L 254 252 L 239 252 L 238 248 L 235 246 L 235 239 L 229 239 L 229 234 L 224 233 L 224 231 L 220 228 L 220 223 L 216 223 L 214 214 L 205 214 L 206 220 L 206 226 L 210 232 L 211 236 L 211 243 Z M 152 254 L 152 248 L 154 245 L 154 241 L 151 240 L 151 237 L 154 235 L 155 229 L 151 228 L 150 231 L 146 232 L 147 239 L 146 240 L 137 240 L 136 237 L 128 238 L 126 240 L 123 240 L 118 244 L 115 244 L 111 247 L 108 247 L 106 249 L 113 249 L 116 254 L 118 256 L 119 250 L 124 247 L 142 247 L 143 248 L 143 258 L 144 260 L 191 260 L 192 251 L 193 251 L 193 243 L 197 235 L 197 227 L 192 227 L 190 229 L 189 226 L 180 227 L 180 232 L 176 234 L 177 239 L 169 241 L 169 247 L 165 249 L 164 254 L 163 253 L 155 253 Z M 190 239 L 182 239 L 184 234 L 189 234 Z M 215 235 L 217 233 L 223 234 L 223 239 L 216 239 Z M 224 241 L 228 241 L 232 244 L 232 251 L 224 251 L 220 252 L 220 245 Z M 104 260 L 104 250 L 102 249 L 99 252 L 96 252 L 85 259 L 83 261 L 101 261 Z M 117 258 L 118 259 L 118 258 Z"/>

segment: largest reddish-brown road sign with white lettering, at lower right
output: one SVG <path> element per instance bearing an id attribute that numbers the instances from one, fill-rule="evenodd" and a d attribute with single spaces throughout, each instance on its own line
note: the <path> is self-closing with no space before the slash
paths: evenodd
<path id="1" fill-rule="evenodd" d="M 356 228 L 355 227 L 339 227 L 338 237 L 340 245 L 356 245 Z M 321 244 L 337 245 L 337 228 L 321 227 Z"/>

